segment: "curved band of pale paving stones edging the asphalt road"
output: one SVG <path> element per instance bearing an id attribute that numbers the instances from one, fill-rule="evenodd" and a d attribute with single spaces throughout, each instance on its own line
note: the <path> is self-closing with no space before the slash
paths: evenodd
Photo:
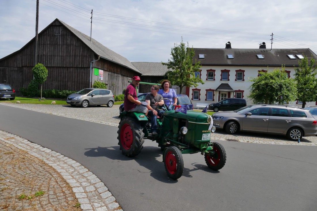
<path id="1" fill-rule="evenodd" d="M 72 187 L 84 211 L 123 211 L 100 179 L 75 160 L 0 130 L 0 140 L 42 159 L 53 167 Z"/>

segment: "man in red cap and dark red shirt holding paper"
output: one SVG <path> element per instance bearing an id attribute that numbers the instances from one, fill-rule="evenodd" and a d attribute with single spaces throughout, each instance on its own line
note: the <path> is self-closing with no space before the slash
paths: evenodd
<path id="1" fill-rule="evenodd" d="M 139 76 L 134 76 L 132 78 L 132 83 L 126 88 L 124 93 L 124 110 L 129 112 L 144 113 L 147 116 L 149 110 L 145 106 L 141 105 L 136 91 L 140 81 L 141 79 Z"/>

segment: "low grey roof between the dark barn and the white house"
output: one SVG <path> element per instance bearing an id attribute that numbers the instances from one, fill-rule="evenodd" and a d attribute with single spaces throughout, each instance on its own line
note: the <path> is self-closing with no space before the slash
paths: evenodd
<path id="1" fill-rule="evenodd" d="M 161 62 L 131 62 L 143 76 L 164 76 L 168 71 L 166 65 Z"/>

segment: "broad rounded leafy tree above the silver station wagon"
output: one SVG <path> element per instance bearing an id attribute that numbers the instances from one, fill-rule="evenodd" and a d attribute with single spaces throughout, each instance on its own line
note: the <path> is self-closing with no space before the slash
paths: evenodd
<path id="1" fill-rule="evenodd" d="M 274 69 L 271 72 L 264 72 L 260 77 L 252 78 L 253 82 L 249 87 L 253 103 L 284 104 L 294 101 L 297 97 L 296 82 L 288 78 L 284 67 Z"/>

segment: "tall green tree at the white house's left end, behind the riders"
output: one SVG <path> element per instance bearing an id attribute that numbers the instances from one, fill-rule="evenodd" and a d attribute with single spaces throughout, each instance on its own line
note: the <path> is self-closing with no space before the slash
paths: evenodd
<path id="1" fill-rule="evenodd" d="M 187 47 L 185 46 L 183 37 L 179 45 L 174 43 L 174 47 L 171 48 L 171 56 L 171 59 L 168 59 L 167 63 L 162 62 L 162 64 L 171 69 L 165 73 L 165 77 L 167 77 L 171 84 L 179 86 L 179 93 L 182 93 L 184 86 L 197 87 L 198 83 L 204 84 L 203 80 L 195 77 L 195 72 L 200 71 L 201 65 L 196 59 L 193 65 L 195 51 L 189 47 L 188 42 Z"/>

